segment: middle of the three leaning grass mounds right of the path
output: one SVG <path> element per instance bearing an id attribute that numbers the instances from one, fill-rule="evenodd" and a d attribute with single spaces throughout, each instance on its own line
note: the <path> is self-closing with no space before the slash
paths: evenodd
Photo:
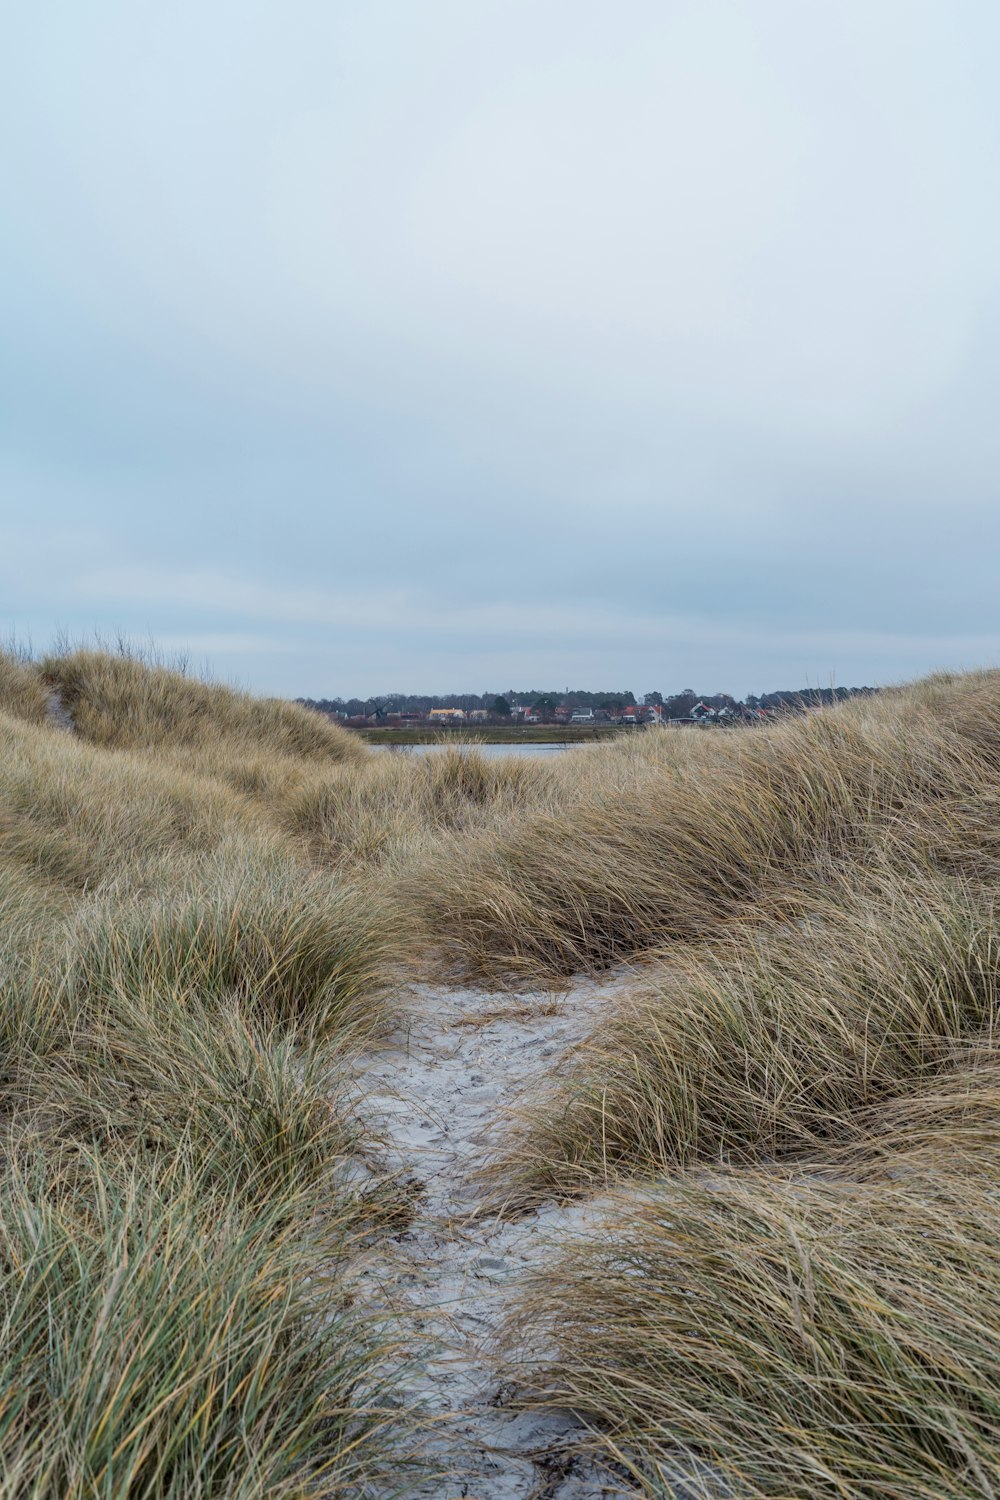
<path id="1" fill-rule="evenodd" d="M 963 1048 L 994 1044 L 991 888 L 841 873 L 802 906 L 777 930 L 652 958 L 526 1107 L 508 1190 L 546 1197 L 810 1152 L 859 1110 L 927 1089 Z"/>

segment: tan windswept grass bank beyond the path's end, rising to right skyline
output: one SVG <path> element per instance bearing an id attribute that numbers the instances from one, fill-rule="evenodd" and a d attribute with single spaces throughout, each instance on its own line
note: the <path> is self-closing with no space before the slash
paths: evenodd
<path id="1" fill-rule="evenodd" d="M 625 784 L 613 756 L 580 752 L 556 806 L 436 840 L 402 882 L 414 924 L 483 982 L 559 981 L 714 940 L 762 906 L 774 915 L 789 885 L 880 856 L 939 802 L 996 786 L 1000 675 L 691 738 L 643 736 L 643 774 Z M 652 748 L 664 741 L 688 748 L 672 760 Z"/>

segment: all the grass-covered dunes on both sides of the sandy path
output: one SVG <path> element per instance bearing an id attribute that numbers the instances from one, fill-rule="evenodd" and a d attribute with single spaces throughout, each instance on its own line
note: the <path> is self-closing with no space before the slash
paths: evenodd
<path id="1" fill-rule="evenodd" d="M 613 966 L 495 1168 L 610 1196 L 525 1400 L 649 1497 L 1000 1492 L 1000 674 L 526 762 L 3 657 L 0 750 L 3 1494 L 391 1492 L 352 1056 L 400 976 Z"/>

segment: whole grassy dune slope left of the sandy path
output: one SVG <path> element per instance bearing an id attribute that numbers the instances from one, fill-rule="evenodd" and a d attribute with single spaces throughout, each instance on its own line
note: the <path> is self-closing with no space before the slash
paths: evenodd
<path id="1" fill-rule="evenodd" d="M 0 684 L 0 1491 L 378 1491 L 394 1335 L 349 1287 L 399 1196 L 340 1100 L 385 924 L 214 774 L 357 747 L 94 654 Z"/>

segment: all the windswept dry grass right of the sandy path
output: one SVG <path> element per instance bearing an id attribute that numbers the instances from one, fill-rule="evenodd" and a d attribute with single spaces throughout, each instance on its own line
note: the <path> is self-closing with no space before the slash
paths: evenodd
<path id="1" fill-rule="evenodd" d="M 499 1164 L 514 1203 L 613 1190 L 522 1293 L 510 1371 L 651 1500 L 681 1472 L 714 1497 L 994 1500 L 1000 682 L 711 756 L 652 766 L 631 808 L 582 778 L 583 818 L 453 876 L 435 856 L 411 892 L 474 972 L 642 958 Z"/>

